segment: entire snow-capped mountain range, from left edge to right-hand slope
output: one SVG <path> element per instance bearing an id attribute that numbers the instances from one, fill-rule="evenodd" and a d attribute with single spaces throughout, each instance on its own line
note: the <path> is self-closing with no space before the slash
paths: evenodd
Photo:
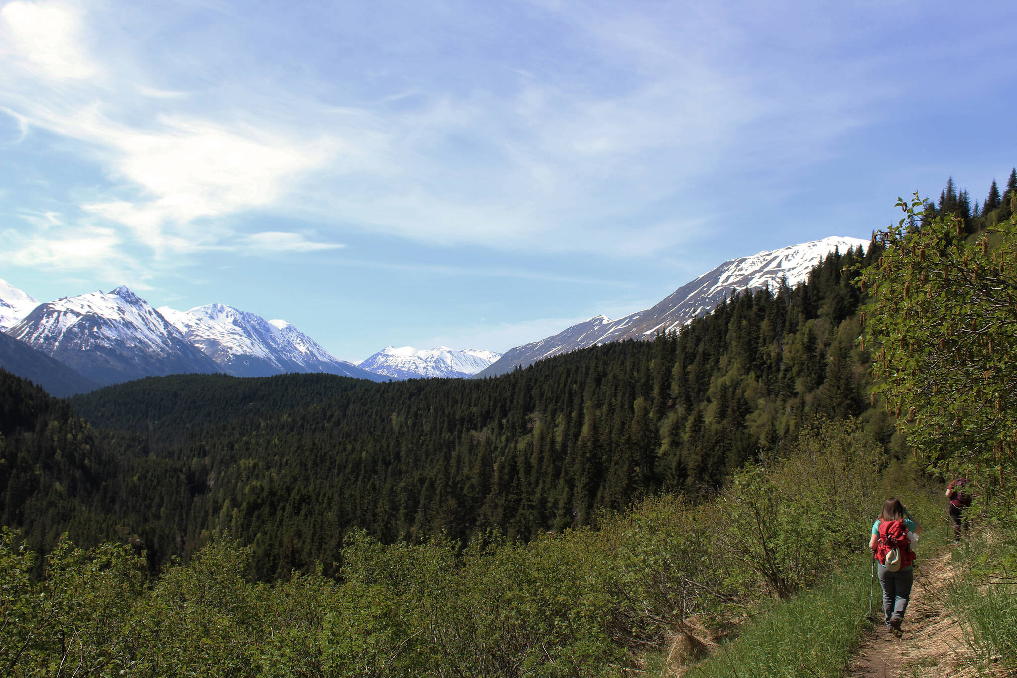
<path id="1" fill-rule="evenodd" d="M 678 288 L 652 308 L 617 320 L 597 316 L 504 355 L 446 347 L 387 347 L 354 364 L 333 357 L 285 320 L 265 320 L 222 304 L 189 311 L 153 308 L 127 287 L 40 304 L 0 280 L 0 367 L 53 394 L 182 372 L 267 376 L 327 372 L 372 381 L 466 378 L 501 374 L 550 356 L 607 342 L 652 338 L 713 310 L 732 290 L 802 282 L 834 249 L 862 249 L 855 238 L 826 238 L 732 259 Z M 64 369 L 66 368 L 66 369 Z"/>

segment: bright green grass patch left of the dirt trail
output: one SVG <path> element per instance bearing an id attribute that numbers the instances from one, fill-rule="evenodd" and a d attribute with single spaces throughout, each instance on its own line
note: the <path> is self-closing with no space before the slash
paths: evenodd
<path id="1" fill-rule="evenodd" d="M 826 583 L 781 602 L 685 677 L 843 676 L 871 627 L 865 620 L 870 572 L 870 561 L 861 560 Z M 879 582 L 873 596 L 874 610 L 879 610 Z"/>

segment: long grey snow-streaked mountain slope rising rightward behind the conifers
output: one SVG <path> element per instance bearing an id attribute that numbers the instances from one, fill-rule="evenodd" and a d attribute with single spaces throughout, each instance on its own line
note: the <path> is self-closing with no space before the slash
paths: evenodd
<path id="1" fill-rule="evenodd" d="M 677 329 L 706 315 L 726 297 L 730 297 L 732 290 L 758 290 L 767 286 L 776 289 L 783 279 L 786 279 L 789 287 L 794 287 L 804 282 L 809 278 L 809 271 L 820 259 L 834 250 L 846 252 L 858 247 L 864 250 L 868 246 L 869 242 L 865 240 L 831 236 L 772 252 L 731 259 L 682 285 L 652 308 L 617 320 L 598 315 L 553 336 L 516 347 L 476 376 L 502 374 L 517 366 L 525 367 L 544 358 L 607 342 L 653 338 L 657 332 Z"/>

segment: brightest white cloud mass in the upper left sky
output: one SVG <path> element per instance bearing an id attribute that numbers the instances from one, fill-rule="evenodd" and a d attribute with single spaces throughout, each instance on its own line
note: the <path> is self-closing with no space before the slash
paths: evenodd
<path id="1" fill-rule="evenodd" d="M 126 227 L 116 243 L 141 243 L 165 261 L 243 238 L 224 218 L 276 205 L 303 174 L 349 150 L 327 134 L 276 129 L 256 116 L 253 122 L 240 114 L 217 122 L 134 114 L 138 101 L 170 105 L 186 100 L 186 93 L 101 77 L 105 68 L 96 65 L 83 40 L 84 16 L 60 3 L 11 2 L 0 10 L 0 39 L 6 39 L 0 43 L 7 45 L 0 50 L 0 85 L 6 85 L 0 103 L 6 100 L 3 110 L 17 119 L 22 138 L 36 126 L 83 142 L 79 150 L 104 168 L 113 185 L 93 189 L 96 197 L 77 206 L 111 228 Z M 75 82 L 68 85 L 68 79 Z M 50 237 L 80 242 L 72 233 Z M 100 242 L 115 246 L 110 237 Z M 320 248 L 300 236 L 279 242 L 290 251 Z M 255 238 L 246 247 L 258 246 Z"/>

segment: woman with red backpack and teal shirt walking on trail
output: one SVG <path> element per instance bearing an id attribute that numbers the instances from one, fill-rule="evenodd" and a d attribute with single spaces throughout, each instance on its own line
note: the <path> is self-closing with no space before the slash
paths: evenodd
<path id="1" fill-rule="evenodd" d="M 921 526 L 907 516 L 907 509 L 900 499 L 891 497 L 883 504 L 883 512 L 873 523 L 869 548 L 876 552 L 883 587 L 883 611 L 887 628 L 900 636 L 900 623 L 904 620 L 907 603 L 911 598 L 914 581 L 914 551 Z"/>

